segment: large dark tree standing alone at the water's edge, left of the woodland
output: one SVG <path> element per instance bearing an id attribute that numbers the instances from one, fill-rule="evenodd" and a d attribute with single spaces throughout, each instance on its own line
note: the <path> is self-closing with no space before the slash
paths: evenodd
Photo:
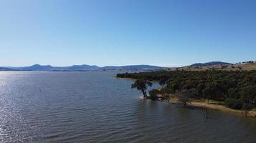
<path id="1" fill-rule="evenodd" d="M 147 87 L 152 87 L 152 82 L 145 79 L 137 79 L 134 84 L 132 84 L 132 89 L 136 88 L 140 90 L 143 97 L 147 97 Z"/>

